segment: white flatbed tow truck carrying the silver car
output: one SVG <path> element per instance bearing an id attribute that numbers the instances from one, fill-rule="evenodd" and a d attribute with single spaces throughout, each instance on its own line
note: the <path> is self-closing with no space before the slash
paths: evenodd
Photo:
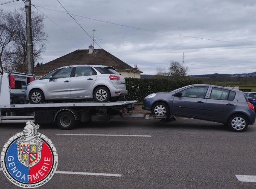
<path id="1" fill-rule="evenodd" d="M 108 121 L 111 118 L 166 116 L 132 115 L 136 100 L 99 103 L 78 102 L 75 99 L 62 103 L 30 104 L 25 99 L 26 84 L 35 80 L 35 74 L 17 72 L 0 76 L 0 123 L 35 124 L 57 123 L 60 129 L 73 129 L 79 122 Z"/>

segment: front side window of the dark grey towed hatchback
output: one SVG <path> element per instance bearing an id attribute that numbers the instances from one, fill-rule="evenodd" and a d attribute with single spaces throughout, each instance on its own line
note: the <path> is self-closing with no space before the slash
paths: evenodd
<path id="1" fill-rule="evenodd" d="M 205 98 L 207 93 L 207 86 L 195 86 L 190 87 L 189 89 L 185 89 L 181 91 L 181 97 L 191 97 L 191 98 Z"/>

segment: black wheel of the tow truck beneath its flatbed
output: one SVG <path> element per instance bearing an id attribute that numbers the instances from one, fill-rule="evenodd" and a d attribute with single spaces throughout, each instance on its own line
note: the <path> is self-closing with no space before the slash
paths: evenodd
<path id="1" fill-rule="evenodd" d="M 63 130 L 69 130 L 73 129 L 77 121 L 75 119 L 75 116 L 71 112 L 61 112 L 57 117 L 57 124 L 60 129 Z"/>

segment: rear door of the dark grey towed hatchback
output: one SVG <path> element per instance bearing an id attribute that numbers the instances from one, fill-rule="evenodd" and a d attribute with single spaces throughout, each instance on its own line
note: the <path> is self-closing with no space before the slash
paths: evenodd
<path id="1" fill-rule="evenodd" d="M 209 98 L 207 98 L 204 106 L 203 117 L 220 119 L 236 108 L 237 92 L 218 87 L 211 87 L 210 90 Z"/>

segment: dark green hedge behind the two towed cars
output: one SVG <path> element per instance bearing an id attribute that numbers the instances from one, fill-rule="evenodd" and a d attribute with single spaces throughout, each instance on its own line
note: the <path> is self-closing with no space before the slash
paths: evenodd
<path id="1" fill-rule="evenodd" d="M 137 100 L 142 102 L 148 94 L 154 92 L 171 92 L 183 86 L 202 84 L 202 80 L 185 78 L 125 78 L 128 95 L 120 100 Z"/>

